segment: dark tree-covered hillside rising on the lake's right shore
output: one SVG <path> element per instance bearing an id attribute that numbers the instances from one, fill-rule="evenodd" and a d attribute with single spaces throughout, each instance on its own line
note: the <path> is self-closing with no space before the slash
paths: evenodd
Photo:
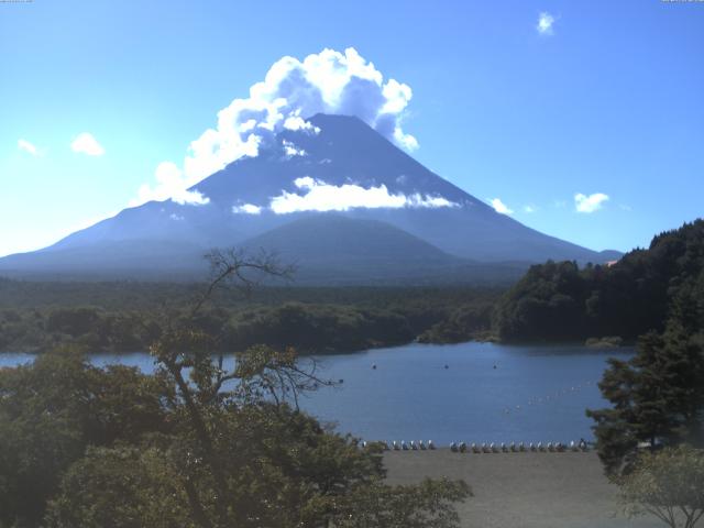
<path id="1" fill-rule="evenodd" d="M 688 309 L 696 304 L 698 309 Z M 613 266 L 532 266 L 496 312 L 502 339 L 573 340 L 661 331 L 673 309 L 704 314 L 704 220 L 661 233 Z M 704 321 L 694 326 L 704 328 Z"/>

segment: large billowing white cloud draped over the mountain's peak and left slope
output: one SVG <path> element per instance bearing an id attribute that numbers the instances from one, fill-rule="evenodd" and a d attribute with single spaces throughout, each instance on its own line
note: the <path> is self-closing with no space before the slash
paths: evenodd
<path id="1" fill-rule="evenodd" d="M 243 156 L 256 156 L 283 129 L 318 133 L 305 121 L 316 113 L 356 116 L 407 150 L 418 141 L 402 127 L 413 97 L 408 85 L 384 80 L 374 64 L 353 47 L 344 53 L 323 50 L 302 61 L 286 56 L 274 63 L 250 97 L 234 99 L 218 112 L 216 127 L 190 143 L 183 164 L 188 188 Z M 163 196 L 157 187 L 154 194 Z"/>

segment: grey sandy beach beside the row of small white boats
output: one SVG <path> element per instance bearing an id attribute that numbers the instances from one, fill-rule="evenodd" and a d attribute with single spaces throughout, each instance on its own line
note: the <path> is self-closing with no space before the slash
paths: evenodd
<path id="1" fill-rule="evenodd" d="M 473 497 L 458 507 L 463 527 L 479 528 L 656 528 L 649 517 L 619 513 L 617 487 L 587 453 L 453 453 L 389 451 L 384 457 L 395 484 L 426 476 L 464 479 Z"/>

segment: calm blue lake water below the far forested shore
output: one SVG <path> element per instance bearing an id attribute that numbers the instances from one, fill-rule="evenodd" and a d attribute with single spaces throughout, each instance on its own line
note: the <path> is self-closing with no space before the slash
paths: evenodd
<path id="1" fill-rule="evenodd" d="M 314 393 L 301 406 L 367 440 L 432 439 L 447 444 L 591 439 L 592 420 L 584 409 L 605 405 L 596 383 L 606 359 L 629 353 L 462 343 L 320 356 L 322 376 L 344 383 Z M 26 354 L 0 354 L 0 366 L 31 360 Z M 153 370 L 152 359 L 143 353 L 97 355 L 94 363 Z"/>

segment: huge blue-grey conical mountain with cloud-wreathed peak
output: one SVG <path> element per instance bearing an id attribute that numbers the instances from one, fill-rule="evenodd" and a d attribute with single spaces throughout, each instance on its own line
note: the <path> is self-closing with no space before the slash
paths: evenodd
<path id="1" fill-rule="evenodd" d="M 199 204 L 151 201 L 125 209 L 44 250 L 1 258 L 0 273 L 202 275 L 199 256 L 232 245 L 283 250 L 302 266 L 328 266 L 330 277 L 339 270 L 341 280 L 353 262 L 370 273 L 385 263 L 392 274 L 395 266 L 437 274 L 471 262 L 614 257 L 497 213 L 354 117 L 299 120 L 263 140 L 255 157 L 231 163 L 189 191 Z M 308 218 L 317 220 L 300 221 Z M 318 243 L 293 251 L 292 241 L 315 240 L 317 233 L 324 233 Z M 339 242 L 350 233 L 354 244 L 343 248 Z M 344 254 L 348 265 L 333 254 Z M 355 276 L 364 282 L 363 274 Z"/>

